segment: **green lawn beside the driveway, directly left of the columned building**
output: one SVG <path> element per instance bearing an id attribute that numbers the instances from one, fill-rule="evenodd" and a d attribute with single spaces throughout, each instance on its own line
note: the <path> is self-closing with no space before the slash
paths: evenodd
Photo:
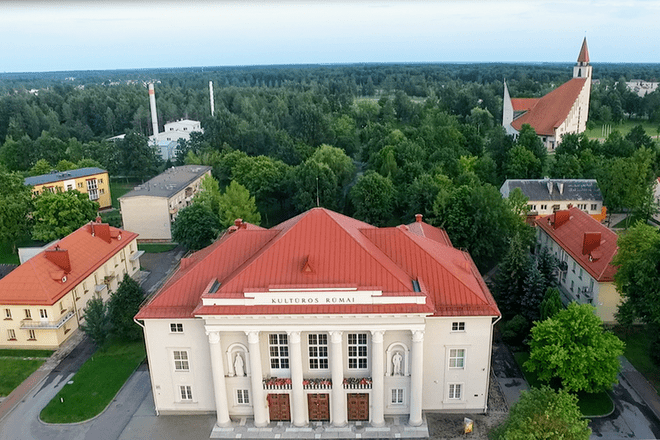
<path id="1" fill-rule="evenodd" d="M 110 342 L 97 351 L 41 411 L 47 423 L 75 423 L 100 414 L 144 360 L 144 342 Z"/>

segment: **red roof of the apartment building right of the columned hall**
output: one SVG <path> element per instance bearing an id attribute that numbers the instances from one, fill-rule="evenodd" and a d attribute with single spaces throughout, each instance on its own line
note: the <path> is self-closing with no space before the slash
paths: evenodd
<path id="1" fill-rule="evenodd" d="M 555 228 L 555 225 L 552 223 L 554 223 L 556 215 L 557 213 L 541 217 L 535 220 L 534 223 L 552 237 L 555 242 L 568 252 L 597 281 L 614 281 L 616 267 L 610 263 L 618 249 L 616 245 L 618 236 L 616 233 L 601 225 L 589 214 L 584 213 L 578 208 L 569 209 L 568 220 Z M 592 232 L 601 234 L 600 246 L 595 251 L 583 254 L 585 233 Z M 591 261 L 590 255 L 596 256 L 598 259 Z"/>

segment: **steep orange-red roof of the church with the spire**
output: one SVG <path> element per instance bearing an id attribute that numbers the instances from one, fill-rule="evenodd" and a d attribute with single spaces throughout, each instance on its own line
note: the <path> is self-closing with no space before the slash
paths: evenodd
<path id="1" fill-rule="evenodd" d="M 538 98 L 536 104 L 514 119 L 511 126 L 520 131 L 524 124 L 529 124 L 534 127 L 536 134 L 554 135 L 555 129 L 566 120 L 586 81 L 587 78 L 573 78 L 544 97 Z"/>

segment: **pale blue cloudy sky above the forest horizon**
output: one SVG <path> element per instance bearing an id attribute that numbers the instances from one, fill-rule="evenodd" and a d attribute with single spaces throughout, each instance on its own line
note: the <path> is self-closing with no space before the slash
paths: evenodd
<path id="1" fill-rule="evenodd" d="M 0 2 L 0 72 L 660 62 L 660 1 Z"/>

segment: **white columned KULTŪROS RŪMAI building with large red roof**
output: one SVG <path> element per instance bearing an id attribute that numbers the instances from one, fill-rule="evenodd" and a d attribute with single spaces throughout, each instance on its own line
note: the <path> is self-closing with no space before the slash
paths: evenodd
<path id="1" fill-rule="evenodd" d="M 390 416 L 426 437 L 423 410 L 485 412 L 499 317 L 470 256 L 421 215 L 377 228 L 314 208 L 270 229 L 237 220 L 136 319 L 159 414 L 216 413 L 224 437 L 245 417 L 284 437 L 326 422 L 322 438 Z"/>

